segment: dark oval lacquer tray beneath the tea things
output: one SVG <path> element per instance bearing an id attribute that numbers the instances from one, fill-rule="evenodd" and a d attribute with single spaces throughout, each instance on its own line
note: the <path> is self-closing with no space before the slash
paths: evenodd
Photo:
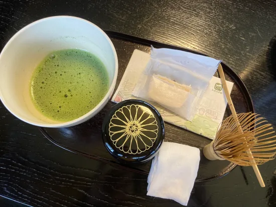
<path id="1" fill-rule="evenodd" d="M 205 55 L 186 48 L 181 48 L 173 45 L 168 45 L 160 42 L 137 38 L 121 33 L 105 31 L 114 44 L 119 61 L 118 78 L 115 90 L 123 76 L 124 70 L 130 60 L 134 49 L 150 53 L 150 47 L 153 45 L 156 48 L 170 48 L 192 52 L 195 54 Z M 219 58 L 219 57 L 216 57 Z M 253 112 L 253 104 L 250 95 L 243 84 L 240 77 L 225 63 L 222 63 L 226 80 L 234 83 L 231 98 L 237 113 Z M 215 74 L 218 76 L 217 74 Z M 101 138 L 101 124 L 105 114 L 114 106 L 114 103 L 108 102 L 107 105 L 92 119 L 77 126 L 68 128 L 40 128 L 41 132 L 51 142 L 68 151 L 81 154 L 83 156 L 109 163 L 117 168 L 131 170 L 137 173 L 148 174 L 151 161 L 137 165 L 122 165 L 116 160 L 103 145 Z M 230 115 L 230 109 L 226 108 L 224 117 Z M 182 143 L 201 150 L 201 160 L 198 170 L 196 182 L 213 180 L 230 172 L 236 165 L 229 161 L 216 160 L 209 161 L 202 154 L 202 149 L 205 145 L 211 142 L 210 139 L 201 135 L 184 130 L 172 124 L 165 124 L 166 136 L 165 141 Z M 185 161 L 185 160 L 183 160 Z"/>

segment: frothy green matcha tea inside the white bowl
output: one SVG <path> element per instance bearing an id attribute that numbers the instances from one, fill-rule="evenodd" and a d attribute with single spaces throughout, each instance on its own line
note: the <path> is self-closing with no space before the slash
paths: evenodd
<path id="1" fill-rule="evenodd" d="M 93 54 L 79 49 L 55 51 L 35 69 L 31 97 L 55 121 L 71 121 L 92 110 L 108 91 L 108 74 Z"/>

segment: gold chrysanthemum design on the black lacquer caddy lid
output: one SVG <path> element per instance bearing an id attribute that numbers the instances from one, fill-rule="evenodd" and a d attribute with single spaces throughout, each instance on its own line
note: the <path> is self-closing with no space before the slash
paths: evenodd
<path id="1" fill-rule="evenodd" d="M 158 136 L 153 112 L 141 105 L 128 105 L 115 111 L 109 123 L 109 136 L 124 153 L 139 154 L 150 149 Z"/>

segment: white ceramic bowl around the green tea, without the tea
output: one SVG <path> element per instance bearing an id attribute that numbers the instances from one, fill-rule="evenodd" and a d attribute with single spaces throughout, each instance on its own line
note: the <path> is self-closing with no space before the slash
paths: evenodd
<path id="1" fill-rule="evenodd" d="M 86 50 L 103 62 L 109 76 L 109 90 L 101 102 L 85 115 L 68 122 L 56 122 L 35 108 L 30 96 L 30 80 L 36 66 L 46 55 L 72 48 Z M 114 90 L 117 73 L 116 51 L 100 28 L 76 17 L 45 18 L 20 30 L 4 47 L 0 55 L 0 98 L 12 114 L 29 124 L 73 126 L 92 118 L 104 107 Z"/>

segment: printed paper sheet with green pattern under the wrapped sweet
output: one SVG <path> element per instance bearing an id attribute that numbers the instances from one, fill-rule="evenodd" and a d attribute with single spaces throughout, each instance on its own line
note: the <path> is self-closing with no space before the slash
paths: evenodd
<path id="1" fill-rule="evenodd" d="M 132 96 L 133 89 L 136 82 L 139 80 L 140 75 L 144 71 L 150 60 L 150 54 L 140 50 L 134 50 L 130 61 L 125 69 L 122 80 L 117 88 L 113 102 L 120 102 L 128 99 L 137 99 Z M 233 83 L 227 81 L 229 92 L 231 92 Z M 177 114 L 169 111 L 165 107 L 148 101 L 152 104 L 162 115 L 164 121 L 182 127 L 189 131 L 203 135 L 210 139 L 214 139 L 217 129 L 222 122 L 223 115 L 226 109 L 227 100 L 222 90 L 221 81 L 217 77 L 213 77 L 209 82 L 209 86 L 200 101 L 197 108 L 197 113 L 192 121 L 188 121 L 178 116 Z"/>

